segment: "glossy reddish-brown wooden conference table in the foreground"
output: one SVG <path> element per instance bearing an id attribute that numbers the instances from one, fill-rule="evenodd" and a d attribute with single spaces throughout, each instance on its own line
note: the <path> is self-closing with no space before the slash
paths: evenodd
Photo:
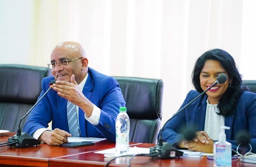
<path id="1" fill-rule="evenodd" d="M 0 143 L 7 142 L 8 137 L 15 133 L 7 133 L 0 137 Z M 149 148 L 155 144 L 130 143 L 133 146 Z M 133 147 L 131 146 L 131 147 Z M 103 154 L 96 154 L 94 151 L 114 148 L 115 143 L 108 140 L 96 142 L 93 146 L 77 148 L 66 148 L 60 146 L 48 146 L 40 144 L 38 147 L 15 148 L 0 147 L 0 167 L 3 166 L 37 166 L 37 167 L 98 167 L 104 166 L 111 158 Z M 109 166 L 127 166 L 129 157 L 121 157 L 110 163 Z M 151 157 L 138 156 L 133 158 L 131 166 L 213 166 L 213 161 L 202 156 L 200 158 L 180 157 L 174 159 L 152 159 Z M 242 163 L 239 160 L 232 160 L 232 166 L 249 167 L 256 166 L 251 163 Z"/>

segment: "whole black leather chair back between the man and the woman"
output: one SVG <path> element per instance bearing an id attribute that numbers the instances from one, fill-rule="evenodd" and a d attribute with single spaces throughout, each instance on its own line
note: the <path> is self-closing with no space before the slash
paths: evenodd
<path id="1" fill-rule="evenodd" d="M 119 83 L 130 118 L 130 141 L 157 143 L 161 126 L 163 81 L 114 77 Z"/>

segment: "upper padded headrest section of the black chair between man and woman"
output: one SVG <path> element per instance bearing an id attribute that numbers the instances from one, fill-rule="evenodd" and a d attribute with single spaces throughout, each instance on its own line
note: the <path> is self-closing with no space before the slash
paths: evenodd
<path id="1" fill-rule="evenodd" d="M 120 85 L 130 118 L 162 118 L 163 81 L 114 77 Z"/>

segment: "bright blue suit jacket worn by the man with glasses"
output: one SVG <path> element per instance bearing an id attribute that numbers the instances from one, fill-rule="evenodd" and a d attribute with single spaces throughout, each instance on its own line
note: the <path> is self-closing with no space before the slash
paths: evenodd
<path id="1" fill-rule="evenodd" d="M 53 76 L 42 80 L 42 92 L 38 99 L 47 91 Z M 91 68 L 82 93 L 98 108 L 100 119 L 98 125 L 92 125 L 84 118 L 84 112 L 79 108 L 79 126 L 81 137 L 107 138 L 115 141 L 115 120 L 119 107 L 125 106 L 124 97 L 117 81 Z M 67 100 L 57 95 L 53 89 L 31 111 L 24 125 L 24 132 L 32 135 L 39 128 L 48 127 L 52 121 L 52 129 L 59 128 L 69 132 L 67 120 Z"/>

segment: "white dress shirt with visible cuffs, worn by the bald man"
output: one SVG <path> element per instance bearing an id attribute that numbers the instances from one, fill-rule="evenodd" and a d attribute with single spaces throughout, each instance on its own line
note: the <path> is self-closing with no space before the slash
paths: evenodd
<path id="1" fill-rule="evenodd" d="M 86 80 L 88 78 L 88 73 L 86 74 L 85 78 L 82 80 L 82 82 L 79 84 L 79 87 L 81 89 L 81 91 L 83 90 L 83 87 L 86 83 Z M 78 118 L 78 110 L 79 110 L 79 107 L 76 106 L 76 113 L 77 113 L 77 118 Z M 33 111 L 32 111 L 33 112 Z M 99 123 L 99 118 L 100 118 L 100 109 L 93 104 L 93 110 L 92 110 L 92 113 L 91 113 L 91 116 L 88 117 L 86 114 L 84 114 L 84 118 L 90 122 L 92 125 L 98 125 Z M 79 126 L 79 119 L 78 119 L 78 126 Z M 36 130 L 34 133 L 33 133 L 33 138 L 35 139 L 38 139 L 41 134 L 44 132 L 44 131 L 52 131 L 50 129 L 47 129 L 47 128 L 40 128 L 38 130 Z M 79 127 L 79 132 L 80 132 L 80 127 Z M 80 133 L 81 134 L 81 133 Z"/>

